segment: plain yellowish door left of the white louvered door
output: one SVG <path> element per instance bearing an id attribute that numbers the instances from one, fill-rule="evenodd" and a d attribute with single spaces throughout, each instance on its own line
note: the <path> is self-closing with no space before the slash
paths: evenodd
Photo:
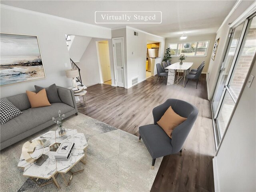
<path id="1" fill-rule="evenodd" d="M 102 70 L 102 78 L 103 78 L 103 82 L 106 82 L 111 80 L 108 43 L 99 43 L 99 52 L 100 52 L 100 65 Z"/>

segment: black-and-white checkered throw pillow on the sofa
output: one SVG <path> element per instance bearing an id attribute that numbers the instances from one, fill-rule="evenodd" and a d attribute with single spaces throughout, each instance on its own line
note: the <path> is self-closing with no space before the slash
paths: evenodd
<path id="1" fill-rule="evenodd" d="M 2 125 L 5 124 L 8 120 L 23 113 L 6 98 L 2 98 L 0 100 L 0 106 L 0 120 Z"/>

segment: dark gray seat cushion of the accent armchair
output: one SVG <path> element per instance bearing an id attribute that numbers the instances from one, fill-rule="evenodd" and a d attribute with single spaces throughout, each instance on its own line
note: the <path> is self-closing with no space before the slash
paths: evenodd
<path id="1" fill-rule="evenodd" d="M 166 156 L 172 153 L 172 139 L 159 125 L 144 125 L 139 127 L 139 134 L 152 158 Z"/>

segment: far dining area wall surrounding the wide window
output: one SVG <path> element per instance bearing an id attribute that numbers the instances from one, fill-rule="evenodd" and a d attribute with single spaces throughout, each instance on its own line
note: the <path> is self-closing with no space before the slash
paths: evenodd
<path id="1" fill-rule="evenodd" d="M 198 66 L 204 61 L 205 66 L 203 72 L 206 73 L 208 71 L 208 66 L 210 63 L 211 55 L 212 55 L 212 48 L 214 46 L 216 34 L 206 34 L 200 36 L 188 36 L 186 39 L 182 40 L 179 37 L 176 38 L 166 38 L 165 40 L 165 48 L 168 48 L 169 43 L 185 43 L 185 42 L 196 42 L 196 41 L 205 41 L 210 40 L 210 44 L 208 45 L 208 52 L 206 56 L 188 56 L 186 58 L 186 62 L 193 62 L 192 68 L 196 69 Z M 178 60 L 178 56 L 172 56 L 172 62 L 180 62 Z"/>

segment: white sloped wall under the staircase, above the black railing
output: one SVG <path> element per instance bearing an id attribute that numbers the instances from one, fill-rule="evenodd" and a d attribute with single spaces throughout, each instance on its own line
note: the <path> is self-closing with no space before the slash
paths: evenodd
<path id="1" fill-rule="evenodd" d="M 80 62 L 80 58 L 84 54 L 84 51 L 86 50 L 91 39 L 92 39 L 91 37 L 74 35 L 74 38 L 71 40 L 72 43 L 70 44 L 68 53 L 69 53 L 70 58 L 75 63 Z"/>

